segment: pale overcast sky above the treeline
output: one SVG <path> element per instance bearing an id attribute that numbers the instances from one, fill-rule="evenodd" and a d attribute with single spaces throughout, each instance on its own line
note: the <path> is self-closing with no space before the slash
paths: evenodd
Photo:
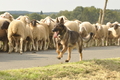
<path id="1" fill-rule="evenodd" d="M 72 11 L 77 6 L 103 9 L 105 0 L 1 0 L 0 3 L 0 11 L 59 12 Z M 107 9 L 120 9 L 120 0 L 109 0 Z"/>

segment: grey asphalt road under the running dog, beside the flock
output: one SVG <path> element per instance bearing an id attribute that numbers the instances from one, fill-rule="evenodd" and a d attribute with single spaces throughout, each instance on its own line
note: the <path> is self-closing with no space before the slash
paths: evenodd
<path id="1" fill-rule="evenodd" d="M 79 61 L 79 53 L 72 51 L 70 62 Z M 83 60 L 120 57 L 120 46 L 90 47 L 83 49 Z M 0 70 L 21 69 L 65 63 L 67 52 L 61 60 L 57 59 L 55 50 L 19 53 L 0 52 Z"/>

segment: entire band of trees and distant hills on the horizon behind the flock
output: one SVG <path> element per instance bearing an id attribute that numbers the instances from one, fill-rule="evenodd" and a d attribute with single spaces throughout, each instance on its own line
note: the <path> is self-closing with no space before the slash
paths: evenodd
<path id="1" fill-rule="evenodd" d="M 26 15 L 28 15 L 30 17 L 30 19 L 43 19 L 46 16 L 50 16 L 54 19 L 56 19 L 59 16 L 66 16 L 69 20 L 80 20 L 80 21 L 89 21 L 91 23 L 96 23 L 98 22 L 98 18 L 99 18 L 99 12 L 100 9 L 99 8 L 95 8 L 94 6 L 91 7 L 82 7 L 82 6 L 77 6 L 73 11 L 59 11 L 58 13 L 43 13 L 41 12 L 37 12 L 37 13 L 28 13 Z M 4 12 L 0 12 L 0 14 L 2 14 Z M 19 14 L 13 14 L 14 18 L 17 18 L 19 16 Z M 104 24 L 106 24 L 107 22 L 115 22 L 118 21 L 120 22 L 120 10 L 106 10 L 105 13 L 105 18 L 104 18 Z"/>

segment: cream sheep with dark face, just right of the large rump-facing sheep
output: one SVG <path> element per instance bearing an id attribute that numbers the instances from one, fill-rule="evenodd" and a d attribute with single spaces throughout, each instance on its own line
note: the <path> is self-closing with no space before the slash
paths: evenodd
<path id="1" fill-rule="evenodd" d="M 42 48 L 44 50 L 48 49 L 48 25 L 45 23 L 38 23 L 36 20 L 32 20 L 30 23 L 30 28 L 32 30 L 36 51 L 38 51 L 38 49 L 42 50 Z"/>

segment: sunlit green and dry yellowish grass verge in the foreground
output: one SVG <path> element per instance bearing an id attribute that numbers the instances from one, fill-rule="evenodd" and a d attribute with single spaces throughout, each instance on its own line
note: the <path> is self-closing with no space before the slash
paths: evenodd
<path id="1" fill-rule="evenodd" d="M 0 80 L 120 80 L 120 58 L 4 70 Z"/>

